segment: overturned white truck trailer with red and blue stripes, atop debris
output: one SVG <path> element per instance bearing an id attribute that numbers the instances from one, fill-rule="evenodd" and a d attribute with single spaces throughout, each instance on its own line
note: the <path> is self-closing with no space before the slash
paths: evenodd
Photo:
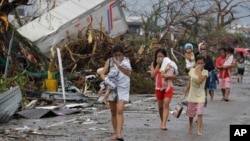
<path id="1" fill-rule="evenodd" d="M 116 0 L 68 0 L 18 31 L 38 46 L 42 53 L 48 54 L 51 46 L 63 43 L 66 36 L 76 36 L 79 29 L 87 27 L 91 16 L 93 28 L 100 28 L 102 23 L 111 37 L 128 30 Z"/>

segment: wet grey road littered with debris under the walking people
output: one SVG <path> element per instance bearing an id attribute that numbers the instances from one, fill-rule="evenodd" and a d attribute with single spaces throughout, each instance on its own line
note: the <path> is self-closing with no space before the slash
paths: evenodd
<path id="1" fill-rule="evenodd" d="M 248 70 L 247 70 L 248 71 Z M 132 103 L 124 111 L 124 140 L 126 141 L 229 141 L 231 124 L 250 123 L 250 73 L 243 84 L 233 77 L 229 102 L 221 101 L 220 90 L 214 101 L 204 109 L 202 136 L 188 133 L 185 108 L 180 118 L 169 116 L 168 130 L 159 129 L 157 102 L 153 94 L 131 95 Z M 176 87 L 182 92 L 184 87 Z M 176 94 L 172 103 L 180 97 Z M 208 97 L 209 98 L 209 97 Z M 95 104 L 79 114 L 42 119 L 14 119 L 0 125 L 0 141 L 109 141 L 113 131 L 108 107 Z"/>

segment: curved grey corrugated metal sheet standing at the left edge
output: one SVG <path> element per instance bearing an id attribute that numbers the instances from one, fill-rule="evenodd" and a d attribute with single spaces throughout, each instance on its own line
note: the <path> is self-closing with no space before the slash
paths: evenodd
<path id="1" fill-rule="evenodd" d="M 21 106 L 22 93 L 19 86 L 0 94 L 0 122 L 8 122 Z"/>

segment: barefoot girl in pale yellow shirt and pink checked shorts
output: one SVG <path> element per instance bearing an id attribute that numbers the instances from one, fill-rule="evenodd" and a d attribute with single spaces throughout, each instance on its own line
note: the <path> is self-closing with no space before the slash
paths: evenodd
<path id="1" fill-rule="evenodd" d="M 205 103 L 205 80 L 208 71 L 204 69 L 205 58 L 197 56 L 195 58 L 195 68 L 191 68 L 188 75 L 189 81 L 185 88 L 184 97 L 187 97 L 187 116 L 189 117 L 189 132 L 193 129 L 193 119 L 197 115 L 197 136 L 201 136 L 202 117 Z"/>

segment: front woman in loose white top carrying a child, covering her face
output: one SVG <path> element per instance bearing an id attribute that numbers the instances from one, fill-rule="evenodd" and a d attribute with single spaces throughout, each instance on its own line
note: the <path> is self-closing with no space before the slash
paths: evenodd
<path id="1" fill-rule="evenodd" d="M 122 129 L 124 123 L 124 105 L 129 102 L 129 90 L 130 90 L 130 76 L 131 76 L 131 65 L 127 57 L 123 56 L 123 46 L 115 45 L 112 49 L 113 57 L 109 58 L 101 72 L 101 78 L 106 82 L 114 83 L 114 89 L 110 89 L 110 92 L 106 93 L 109 101 L 109 108 L 111 111 L 111 122 L 114 130 L 114 135 L 111 140 L 123 141 Z M 126 66 L 126 67 L 124 67 Z M 113 70 L 114 69 L 114 70 Z M 107 76 L 108 72 L 110 74 Z M 111 80 L 111 77 L 116 77 Z M 113 79 L 113 78 L 112 78 Z"/>

